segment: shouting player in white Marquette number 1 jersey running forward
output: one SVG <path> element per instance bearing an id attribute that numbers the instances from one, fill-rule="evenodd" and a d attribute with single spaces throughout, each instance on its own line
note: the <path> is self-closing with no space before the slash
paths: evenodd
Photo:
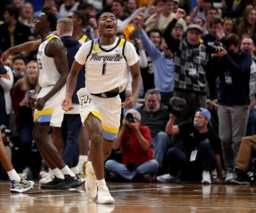
<path id="1" fill-rule="evenodd" d="M 141 73 L 134 46 L 115 36 L 117 19 L 112 13 L 105 12 L 100 16 L 98 29 L 101 38 L 86 42 L 76 54 L 67 79 L 63 109 L 72 109 L 71 97 L 77 74 L 85 64 L 86 87 L 77 92 L 81 120 L 91 140 L 92 163 L 85 165 L 85 189 L 90 197 L 97 197 L 98 203 L 114 203 L 104 179 L 104 160 L 110 155 L 117 137 L 121 108 L 132 108 L 138 99 Z M 125 89 L 129 67 L 133 75 L 133 94 L 121 103 L 118 93 Z"/>

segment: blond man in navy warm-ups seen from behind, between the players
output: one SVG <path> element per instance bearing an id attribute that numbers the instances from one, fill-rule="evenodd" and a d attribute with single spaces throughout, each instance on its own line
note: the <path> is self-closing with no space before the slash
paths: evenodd
<path id="1" fill-rule="evenodd" d="M 63 18 L 59 19 L 57 22 L 57 35 L 60 37 L 65 48 L 67 49 L 68 57 L 68 67 L 71 69 L 72 63 L 74 61 L 75 55 L 79 50 L 81 44 L 79 41 L 72 37 L 73 23 L 71 19 Z M 73 110 L 68 111 L 64 114 L 63 123 L 61 130 L 64 136 L 65 148 L 63 151 L 64 162 L 72 168 L 75 174 L 79 173 L 79 168 L 76 167 L 79 162 L 79 146 L 78 146 L 78 136 L 81 129 L 82 123 L 79 114 L 79 100 L 76 92 L 80 88 L 85 87 L 85 70 L 77 75 L 77 84 L 75 91 L 72 96 Z"/>

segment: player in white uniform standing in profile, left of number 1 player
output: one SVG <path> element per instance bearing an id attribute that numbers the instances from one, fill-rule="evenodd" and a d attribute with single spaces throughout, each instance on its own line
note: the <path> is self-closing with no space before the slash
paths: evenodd
<path id="1" fill-rule="evenodd" d="M 55 178 L 41 188 L 69 189 L 81 185 L 79 178 L 61 159 L 52 144 L 49 132 L 52 127 L 60 127 L 64 112 L 61 102 L 65 97 L 65 81 L 68 74 L 68 62 L 63 42 L 52 34 L 57 19 L 51 11 L 46 11 L 35 19 L 35 32 L 41 37 L 38 49 L 39 92 L 35 103 L 33 136 L 43 159 L 52 169 Z"/>

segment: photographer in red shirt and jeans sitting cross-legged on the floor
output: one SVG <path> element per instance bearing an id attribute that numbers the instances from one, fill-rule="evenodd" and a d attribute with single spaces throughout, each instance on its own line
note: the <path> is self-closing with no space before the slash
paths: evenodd
<path id="1" fill-rule="evenodd" d="M 105 168 L 129 181 L 151 182 L 151 174 L 158 171 L 151 149 L 151 134 L 147 126 L 141 126 L 141 114 L 135 109 L 127 110 L 119 130 L 114 150 L 122 147 L 122 164 L 106 161 Z"/>

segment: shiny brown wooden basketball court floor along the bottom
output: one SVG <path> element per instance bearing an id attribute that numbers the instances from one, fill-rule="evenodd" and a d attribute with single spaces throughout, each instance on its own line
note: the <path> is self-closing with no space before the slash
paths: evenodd
<path id="1" fill-rule="evenodd" d="M 76 190 L 10 193 L 0 184 L 0 212 L 256 212 L 256 186 L 200 184 L 108 184 L 115 205 L 98 205 L 84 186 Z"/>

